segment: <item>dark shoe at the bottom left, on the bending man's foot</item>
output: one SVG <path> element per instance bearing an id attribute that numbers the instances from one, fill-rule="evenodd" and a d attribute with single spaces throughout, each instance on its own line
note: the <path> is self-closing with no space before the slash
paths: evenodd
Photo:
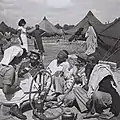
<path id="1" fill-rule="evenodd" d="M 23 115 L 18 105 L 14 104 L 10 107 L 10 114 L 16 116 L 19 119 L 26 120 L 27 117 Z"/>

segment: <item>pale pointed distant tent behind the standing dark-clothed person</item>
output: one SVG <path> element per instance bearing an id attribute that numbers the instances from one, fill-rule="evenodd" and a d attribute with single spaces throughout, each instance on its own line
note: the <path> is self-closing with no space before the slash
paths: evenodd
<path id="1" fill-rule="evenodd" d="M 51 22 L 47 20 L 46 17 L 43 18 L 43 20 L 39 23 L 40 29 L 46 31 L 47 33 L 54 35 L 58 34 L 61 35 L 62 31 L 58 30 Z"/>

